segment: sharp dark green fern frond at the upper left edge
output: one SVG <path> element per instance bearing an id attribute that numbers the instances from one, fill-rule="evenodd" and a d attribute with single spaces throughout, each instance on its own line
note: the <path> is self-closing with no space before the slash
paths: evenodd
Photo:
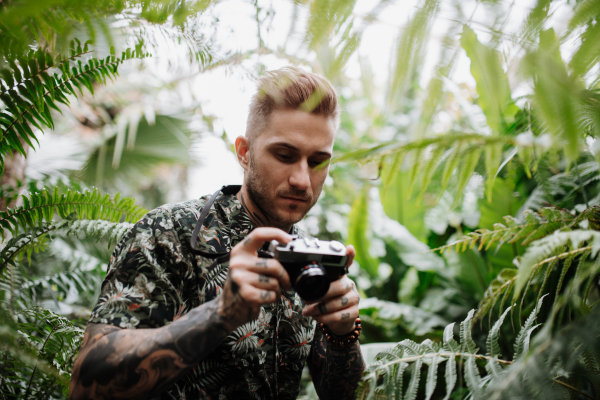
<path id="1" fill-rule="evenodd" d="M 29 51 L 15 59 L 9 59 L 9 69 L 1 71 L 2 92 L 0 99 L 6 107 L 0 112 L 0 167 L 4 158 L 13 150 L 25 154 L 21 140 L 33 147 L 37 141 L 32 126 L 54 128 L 51 109 L 60 112 L 57 103 L 69 104 L 68 95 L 77 97 L 76 90 L 87 88 L 94 92 L 94 83 L 106 84 L 118 74 L 118 66 L 132 58 L 144 58 L 149 54 L 139 49 L 127 49 L 120 58 L 115 57 L 114 48 L 106 59 L 90 58 L 86 62 L 77 60 L 88 53 L 88 43 L 83 46 L 79 40 L 71 42 L 71 57 L 65 60 L 53 60 L 49 53 L 42 50 Z M 50 69 L 60 72 L 48 73 Z"/>

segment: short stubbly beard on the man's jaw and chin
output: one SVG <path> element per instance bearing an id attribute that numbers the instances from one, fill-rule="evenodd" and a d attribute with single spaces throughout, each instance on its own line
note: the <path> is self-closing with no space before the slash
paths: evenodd
<path id="1" fill-rule="evenodd" d="M 297 218 L 286 218 L 281 215 L 274 204 L 272 204 L 272 199 L 269 199 L 269 184 L 264 177 L 260 176 L 256 171 L 256 166 L 254 164 L 254 155 L 250 154 L 250 165 L 248 166 L 248 177 L 246 179 L 246 190 L 248 192 L 248 197 L 250 197 L 250 201 L 260 210 L 263 216 L 267 219 L 264 221 L 267 225 L 274 226 L 276 228 L 280 228 L 282 230 L 288 230 L 292 225 L 299 222 L 304 218 L 304 216 L 308 213 L 308 211 L 315 205 L 317 200 L 319 199 L 319 193 L 314 193 L 314 197 L 311 197 L 304 190 L 297 190 L 294 187 L 290 187 L 287 191 L 281 191 L 274 193 L 275 197 L 278 196 L 291 196 L 302 198 L 306 200 L 310 207 L 306 209 L 306 211 Z M 297 209 L 299 206 L 297 204 L 291 204 L 290 209 Z"/>

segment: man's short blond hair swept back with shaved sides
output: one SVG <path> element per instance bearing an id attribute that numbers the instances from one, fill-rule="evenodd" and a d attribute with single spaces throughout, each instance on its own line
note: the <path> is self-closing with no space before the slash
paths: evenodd
<path id="1" fill-rule="evenodd" d="M 336 129 L 340 120 L 337 93 L 331 82 L 297 67 L 267 71 L 259 78 L 246 124 L 250 143 L 269 126 L 269 118 L 275 110 L 301 110 L 332 118 Z"/>

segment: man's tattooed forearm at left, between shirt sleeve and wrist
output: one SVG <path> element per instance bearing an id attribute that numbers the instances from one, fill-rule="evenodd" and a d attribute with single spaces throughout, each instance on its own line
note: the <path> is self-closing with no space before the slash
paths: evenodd
<path id="1" fill-rule="evenodd" d="M 71 399 L 147 398 L 198 364 L 230 333 L 217 299 L 158 329 L 89 324 L 71 375 Z"/>

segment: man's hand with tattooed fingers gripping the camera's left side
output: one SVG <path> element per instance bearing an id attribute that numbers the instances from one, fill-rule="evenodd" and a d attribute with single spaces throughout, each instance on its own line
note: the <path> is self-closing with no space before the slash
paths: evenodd
<path id="1" fill-rule="evenodd" d="M 258 257 L 258 249 L 271 240 L 287 244 L 292 237 L 277 228 L 256 228 L 231 249 L 229 273 L 217 309 L 231 330 L 258 318 L 260 306 L 279 300 L 281 288 L 292 288 L 279 261 Z"/>

